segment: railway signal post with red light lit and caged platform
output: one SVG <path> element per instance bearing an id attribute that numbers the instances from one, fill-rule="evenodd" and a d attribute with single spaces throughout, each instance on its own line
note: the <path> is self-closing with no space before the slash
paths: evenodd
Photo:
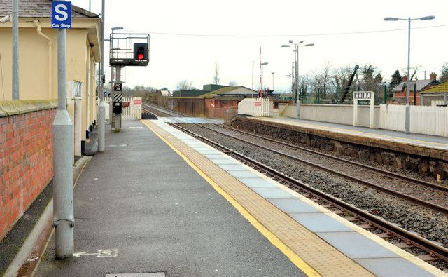
<path id="1" fill-rule="evenodd" d="M 132 46 L 132 48 L 130 48 Z M 121 130 L 121 113 L 123 111 L 123 83 L 121 69 L 125 66 L 146 66 L 149 63 L 149 34 L 111 34 L 111 51 L 109 63 L 116 70 L 113 82 L 112 100 L 113 116 L 111 128 Z"/>

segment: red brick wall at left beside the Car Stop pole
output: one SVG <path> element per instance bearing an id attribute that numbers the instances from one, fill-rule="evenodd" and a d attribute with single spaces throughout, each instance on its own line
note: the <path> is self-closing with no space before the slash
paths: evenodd
<path id="1" fill-rule="evenodd" d="M 0 117 L 0 241 L 52 178 L 56 112 Z"/>

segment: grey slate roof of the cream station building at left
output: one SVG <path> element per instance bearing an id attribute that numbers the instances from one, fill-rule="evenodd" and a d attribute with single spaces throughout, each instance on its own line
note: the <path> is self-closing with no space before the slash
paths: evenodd
<path id="1" fill-rule="evenodd" d="M 12 13 L 13 1 L 0 0 L 0 18 Z M 20 0 L 19 18 L 51 18 L 50 0 Z M 99 15 L 90 13 L 83 8 L 71 5 L 72 18 L 99 18 Z"/>

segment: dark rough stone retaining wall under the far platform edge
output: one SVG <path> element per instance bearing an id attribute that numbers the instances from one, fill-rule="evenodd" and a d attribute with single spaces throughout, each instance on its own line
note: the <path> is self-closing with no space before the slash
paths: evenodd
<path id="1" fill-rule="evenodd" d="M 414 171 L 421 175 L 448 180 L 448 151 L 403 142 L 379 140 L 373 137 L 335 133 L 328 130 L 291 126 L 261 121 L 251 117 L 236 117 L 232 126 L 251 133 L 269 135 L 290 142 L 306 144 L 335 154 L 364 158 L 394 168 Z"/>

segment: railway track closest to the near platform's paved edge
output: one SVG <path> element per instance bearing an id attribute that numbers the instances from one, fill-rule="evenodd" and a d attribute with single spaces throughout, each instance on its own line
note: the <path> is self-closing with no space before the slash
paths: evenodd
<path id="1" fill-rule="evenodd" d="M 198 140 L 202 140 L 203 142 L 212 145 L 216 149 L 220 149 L 226 154 L 237 158 L 239 161 L 256 168 L 265 175 L 283 182 L 283 184 L 296 189 L 302 195 L 308 196 L 314 201 L 323 203 L 323 206 L 330 208 L 330 210 L 333 210 L 335 213 L 339 215 L 346 215 L 349 221 L 357 222 L 360 227 L 373 231 L 377 236 L 388 239 L 388 241 L 391 241 L 402 249 L 411 250 L 412 248 L 419 248 L 420 250 L 423 250 L 426 253 L 423 255 L 418 255 L 417 257 L 420 259 L 426 261 L 442 260 L 445 263 L 448 262 L 448 249 L 433 241 L 429 241 L 428 239 L 423 238 L 412 231 L 407 231 L 402 227 L 398 227 L 397 224 L 387 222 L 380 217 L 370 214 L 370 212 L 356 208 L 355 206 L 341 201 L 330 194 L 325 194 L 325 192 L 315 189 L 308 184 L 304 184 L 303 182 L 295 180 L 292 177 L 279 173 L 276 170 L 263 165 L 262 163 L 253 161 L 251 158 L 248 158 L 243 154 L 239 154 L 232 149 L 228 149 L 221 144 L 217 144 L 216 142 L 209 140 L 207 137 L 203 137 L 191 130 L 182 128 L 181 126 L 174 125 L 172 123 L 170 123 L 170 125 L 196 137 Z M 397 238 L 399 239 L 398 241 L 396 240 Z M 446 268 L 447 266 L 444 267 Z"/>

